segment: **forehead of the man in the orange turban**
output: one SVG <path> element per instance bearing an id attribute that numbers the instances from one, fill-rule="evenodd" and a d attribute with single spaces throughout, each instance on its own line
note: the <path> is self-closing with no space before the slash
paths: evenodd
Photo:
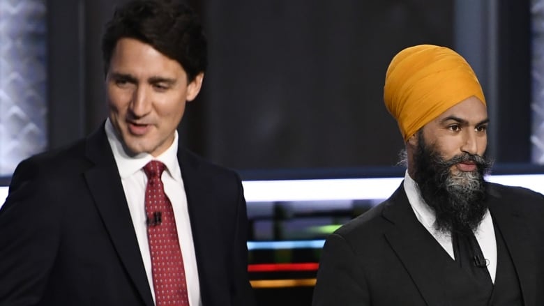
<path id="1" fill-rule="evenodd" d="M 450 107 L 432 122 L 440 123 L 448 119 L 461 119 L 468 123 L 480 123 L 488 119 L 488 109 L 478 98 L 471 96 Z"/>

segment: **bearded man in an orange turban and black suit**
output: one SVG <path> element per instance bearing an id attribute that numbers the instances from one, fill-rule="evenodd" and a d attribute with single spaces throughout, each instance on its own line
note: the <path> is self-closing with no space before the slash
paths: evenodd
<path id="1" fill-rule="evenodd" d="M 446 47 L 404 49 L 384 101 L 405 180 L 327 238 L 313 305 L 544 305 L 544 197 L 484 181 L 488 114 L 469 64 Z"/>

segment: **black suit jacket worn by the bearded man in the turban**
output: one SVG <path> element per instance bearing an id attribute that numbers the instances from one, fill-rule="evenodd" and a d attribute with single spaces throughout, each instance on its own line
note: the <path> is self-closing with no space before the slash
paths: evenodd
<path id="1" fill-rule="evenodd" d="M 490 213 L 513 259 L 524 305 L 544 305 L 544 197 L 524 188 L 488 188 Z M 391 198 L 327 238 L 312 305 L 451 305 L 439 277 L 451 258 L 437 257 L 439 249 L 401 184 Z"/>

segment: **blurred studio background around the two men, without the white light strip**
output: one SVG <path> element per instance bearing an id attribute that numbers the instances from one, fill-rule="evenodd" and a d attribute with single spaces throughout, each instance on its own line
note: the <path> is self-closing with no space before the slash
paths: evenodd
<path id="1" fill-rule="evenodd" d="M 103 123 L 100 36 L 123 2 L 0 0 L 0 185 L 23 158 Z M 544 174 L 543 0 L 188 2 L 209 70 L 179 132 L 246 182 L 403 176 L 384 77 L 397 52 L 422 43 L 476 71 L 494 174 Z M 249 199 L 259 305 L 310 305 L 326 234 L 384 197 Z"/>

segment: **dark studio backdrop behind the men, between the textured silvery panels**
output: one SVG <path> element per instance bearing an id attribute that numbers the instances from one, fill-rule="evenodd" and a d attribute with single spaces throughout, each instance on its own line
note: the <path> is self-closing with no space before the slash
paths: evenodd
<path id="1" fill-rule="evenodd" d="M 105 119 L 100 36 L 122 2 L 47 0 L 50 148 Z M 476 70 L 497 167 L 531 168 L 529 0 L 189 2 L 209 70 L 180 135 L 245 179 L 402 175 L 384 77 L 394 54 L 421 43 L 452 47 Z M 312 287 L 285 290 L 257 292 L 259 305 L 310 305 Z"/>

